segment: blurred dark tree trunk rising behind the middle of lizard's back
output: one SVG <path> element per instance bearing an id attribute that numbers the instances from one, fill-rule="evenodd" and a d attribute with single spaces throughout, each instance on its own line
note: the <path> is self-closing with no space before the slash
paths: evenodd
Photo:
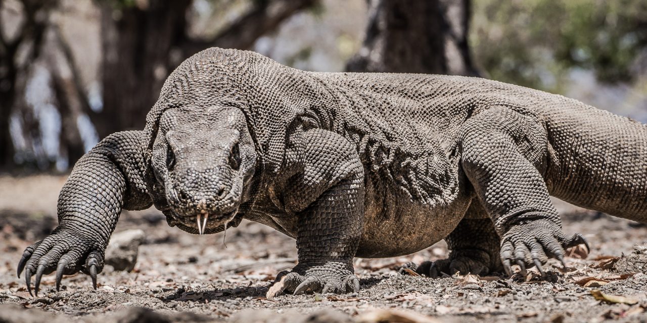
<path id="1" fill-rule="evenodd" d="M 369 0 L 366 39 L 351 72 L 478 76 L 467 43 L 470 0 Z"/>

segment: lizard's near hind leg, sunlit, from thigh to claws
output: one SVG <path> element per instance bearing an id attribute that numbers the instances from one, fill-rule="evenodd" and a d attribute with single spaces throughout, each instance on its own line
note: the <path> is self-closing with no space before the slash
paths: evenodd
<path id="1" fill-rule="evenodd" d="M 506 273 L 516 264 L 523 274 L 548 258 L 564 264 L 565 249 L 586 244 L 581 234 L 564 233 L 550 200 L 543 178 L 548 141 L 540 120 L 492 108 L 468 120 L 461 132 L 463 170 L 501 236 Z"/>

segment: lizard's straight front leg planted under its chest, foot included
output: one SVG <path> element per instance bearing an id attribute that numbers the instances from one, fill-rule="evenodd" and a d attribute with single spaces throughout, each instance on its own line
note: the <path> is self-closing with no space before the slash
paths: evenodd
<path id="1" fill-rule="evenodd" d="M 287 187 L 287 207 L 298 209 L 298 264 L 276 277 L 268 297 L 359 290 L 353 258 L 362 236 L 364 168 L 342 136 L 313 129 L 303 135 L 305 168 Z M 308 201 L 312 201 L 309 204 Z M 305 202 L 305 203 L 304 203 Z"/>

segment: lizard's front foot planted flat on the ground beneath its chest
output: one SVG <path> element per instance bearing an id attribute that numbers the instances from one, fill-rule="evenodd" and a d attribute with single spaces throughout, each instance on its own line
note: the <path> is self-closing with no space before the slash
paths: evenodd
<path id="1" fill-rule="evenodd" d="M 314 293 L 351 293 L 359 291 L 360 281 L 353 271 L 340 262 L 326 262 L 320 266 L 298 264 L 292 271 L 281 271 L 276 275 L 274 285 L 267 291 L 267 298 L 283 292 L 300 295 L 309 291 Z"/>

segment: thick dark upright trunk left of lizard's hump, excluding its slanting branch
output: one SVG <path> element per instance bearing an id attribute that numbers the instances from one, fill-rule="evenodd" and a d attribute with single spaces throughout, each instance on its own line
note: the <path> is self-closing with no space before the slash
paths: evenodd
<path id="1" fill-rule="evenodd" d="M 190 4 L 190 0 L 151 0 L 146 8 L 116 11 L 112 3 L 100 3 L 104 109 L 92 118 L 100 138 L 144 127 L 146 114 L 175 65 L 170 56 L 184 37 Z"/>

